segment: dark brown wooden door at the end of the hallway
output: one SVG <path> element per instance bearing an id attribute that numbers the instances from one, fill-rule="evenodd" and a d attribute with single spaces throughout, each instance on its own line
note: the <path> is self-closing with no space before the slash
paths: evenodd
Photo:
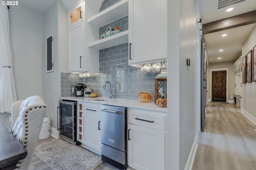
<path id="1" fill-rule="evenodd" d="M 212 102 L 226 102 L 226 70 L 212 72 Z"/>

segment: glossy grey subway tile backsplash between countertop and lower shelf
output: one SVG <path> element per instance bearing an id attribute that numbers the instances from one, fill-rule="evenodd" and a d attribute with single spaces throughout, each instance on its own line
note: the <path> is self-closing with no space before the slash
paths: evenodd
<path id="1" fill-rule="evenodd" d="M 144 73 L 140 68 L 128 65 L 128 43 L 116 45 L 100 50 L 100 73 L 90 78 L 80 78 L 78 74 L 61 73 L 61 97 L 75 96 L 72 87 L 77 83 L 84 83 L 92 88 L 99 97 L 109 97 L 109 84 L 112 84 L 114 97 L 137 100 L 138 94 L 145 90 L 150 93 L 152 101 L 155 95 L 155 77 L 160 72 Z M 163 90 L 166 92 L 166 89 Z"/>

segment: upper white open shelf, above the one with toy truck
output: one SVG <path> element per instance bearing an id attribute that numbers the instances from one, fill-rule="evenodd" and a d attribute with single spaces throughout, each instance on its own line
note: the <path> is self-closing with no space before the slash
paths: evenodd
<path id="1" fill-rule="evenodd" d="M 128 15 L 128 0 L 121 0 L 110 6 L 106 10 L 92 16 L 88 19 L 88 23 L 92 23 L 98 27 L 102 27 L 112 21 L 118 20 Z"/>

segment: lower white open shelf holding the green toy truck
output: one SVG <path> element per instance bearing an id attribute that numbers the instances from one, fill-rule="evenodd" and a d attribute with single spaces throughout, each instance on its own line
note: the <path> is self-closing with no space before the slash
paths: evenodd
<path id="1" fill-rule="evenodd" d="M 115 45 L 127 43 L 128 42 L 128 32 L 129 32 L 129 30 L 126 30 L 126 31 L 120 32 L 118 34 L 106 37 L 104 39 L 100 39 L 98 41 L 88 43 L 88 47 L 101 50 L 101 49 L 106 49 L 108 47 L 113 47 Z"/>

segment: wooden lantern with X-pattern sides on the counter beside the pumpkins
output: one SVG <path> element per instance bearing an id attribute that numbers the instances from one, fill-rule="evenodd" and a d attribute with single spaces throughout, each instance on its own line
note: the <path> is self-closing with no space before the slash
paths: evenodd
<path id="1" fill-rule="evenodd" d="M 164 96 L 163 94 L 160 94 L 161 88 L 167 89 L 167 68 L 166 67 L 161 68 L 161 73 L 158 74 L 155 78 L 155 101 L 154 101 L 154 103 L 156 105 L 158 105 L 156 101 L 158 99 L 163 99 L 163 96 Z M 165 101 L 166 101 L 166 96 L 164 96 L 164 97 L 165 97 Z M 164 107 L 166 107 L 166 106 L 164 106 Z"/>

